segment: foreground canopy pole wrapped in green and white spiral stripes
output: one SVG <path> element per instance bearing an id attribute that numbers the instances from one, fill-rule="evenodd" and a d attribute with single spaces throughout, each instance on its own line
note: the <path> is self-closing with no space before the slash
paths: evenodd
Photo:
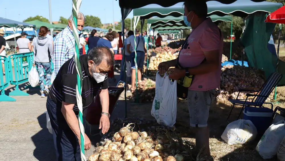
<path id="1" fill-rule="evenodd" d="M 81 154 L 81 161 L 86 161 L 86 157 L 84 155 L 84 126 L 83 126 L 83 108 L 82 108 L 82 70 L 81 65 L 79 62 L 79 35 L 77 32 L 77 14 L 79 12 L 79 8 L 81 5 L 82 0 L 72 0 L 72 34 L 75 38 L 75 45 L 74 45 L 74 62 L 75 62 L 75 68 L 77 72 L 77 85 L 76 85 L 76 100 L 77 100 L 77 106 L 79 109 L 78 114 L 78 124 L 80 129 L 80 154 Z"/>

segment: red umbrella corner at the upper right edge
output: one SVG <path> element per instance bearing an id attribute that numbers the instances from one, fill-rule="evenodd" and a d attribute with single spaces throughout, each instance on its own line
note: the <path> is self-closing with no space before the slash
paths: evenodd
<path id="1" fill-rule="evenodd" d="M 269 14 L 264 22 L 285 24 L 285 6 Z"/>

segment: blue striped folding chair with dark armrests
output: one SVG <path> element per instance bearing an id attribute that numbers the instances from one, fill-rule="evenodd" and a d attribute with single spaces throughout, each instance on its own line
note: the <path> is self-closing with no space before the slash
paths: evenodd
<path id="1" fill-rule="evenodd" d="M 257 94 L 246 94 L 246 99 L 238 99 L 239 94 L 237 95 L 236 99 L 228 99 L 232 104 L 231 112 L 233 111 L 233 107 L 235 105 L 242 106 L 241 111 L 239 112 L 239 116 L 241 116 L 241 112 L 243 111 L 243 108 L 245 105 L 247 106 L 255 106 L 255 107 L 262 107 L 263 104 L 271 104 L 272 103 L 265 103 L 266 99 L 270 95 L 270 93 L 273 91 L 273 89 L 276 87 L 278 82 L 281 80 L 282 74 L 279 74 L 277 72 L 273 72 L 269 78 L 266 80 L 264 85 L 259 89 L 259 91 L 254 90 L 248 90 L 248 89 L 239 89 L 239 94 L 241 92 L 257 92 Z M 249 99 L 248 97 L 254 97 L 252 99 Z M 227 120 L 229 120 L 229 117 L 231 115 L 231 112 L 229 113 L 229 116 Z M 239 119 L 239 116 L 237 117 L 237 120 Z"/>

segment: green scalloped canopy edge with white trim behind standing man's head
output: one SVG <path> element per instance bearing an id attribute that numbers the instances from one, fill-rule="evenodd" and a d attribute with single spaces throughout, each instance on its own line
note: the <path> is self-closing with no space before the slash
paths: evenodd
<path id="1" fill-rule="evenodd" d="M 209 15 L 216 14 L 219 16 L 225 16 L 227 14 L 232 14 L 235 16 L 245 17 L 248 14 L 257 11 L 273 12 L 282 7 L 282 3 L 237 0 L 234 3 L 226 5 L 217 1 L 208 1 L 207 6 Z M 149 19 L 153 16 L 161 18 L 166 16 L 179 17 L 184 14 L 184 9 L 182 2 L 166 8 L 163 8 L 160 5 L 150 4 L 141 8 L 133 9 L 133 14 L 134 16 L 140 16 L 141 19 Z"/>

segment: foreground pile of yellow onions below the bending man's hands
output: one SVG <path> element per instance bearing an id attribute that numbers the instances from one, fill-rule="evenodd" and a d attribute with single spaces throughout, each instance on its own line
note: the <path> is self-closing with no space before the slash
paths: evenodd
<path id="1" fill-rule="evenodd" d="M 185 151 L 172 149 L 171 145 L 178 145 L 174 140 L 169 140 L 162 134 L 154 136 L 154 133 L 133 131 L 131 125 L 132 123 L 114 133 L 112 140 L 105 139 L 97 144 L 88 161 L 184 160 Z"/>

